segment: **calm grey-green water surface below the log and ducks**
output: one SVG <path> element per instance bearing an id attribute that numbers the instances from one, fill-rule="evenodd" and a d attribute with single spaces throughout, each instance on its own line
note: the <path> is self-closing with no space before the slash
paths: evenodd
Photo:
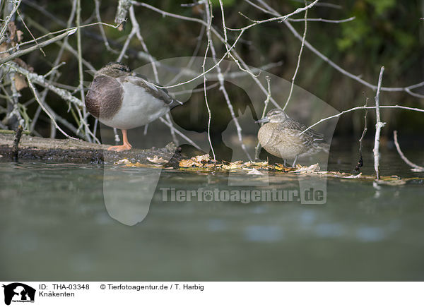
<path id="1" fill-rule="evenodd" d="M 136 198 L 146 170 L 1 162 L 0 279 L 424 280 L 423 174 L 385 157 L 396 162 L 383 160 L 383 173 L 419 178 L 379 190 L 329 179 L 325 205 L 163 202 L 161 187 L 228 189 L 225 174 L 163 170 L 135 226 L 110 217 L 103 179 Z M 331 159 L 330 169 L 351 168 L 349 155 Z M 293 178 L 271 175 L 259 189 Z"/>

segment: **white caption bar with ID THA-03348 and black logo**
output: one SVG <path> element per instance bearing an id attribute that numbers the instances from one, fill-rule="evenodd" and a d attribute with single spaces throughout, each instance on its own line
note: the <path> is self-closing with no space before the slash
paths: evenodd
<path id="1" fill-rule="evenodd" d="M 423 306 L 424 282 L 0 282 L 18 306 Z M 30 303 L 31 302 L 31 303 Z M 30 303 L 27 305 L 25 303 Z M 78 304 L 78 305 L 76 305 Z M 81 305 L 83 304 L 83 305 Z"/>

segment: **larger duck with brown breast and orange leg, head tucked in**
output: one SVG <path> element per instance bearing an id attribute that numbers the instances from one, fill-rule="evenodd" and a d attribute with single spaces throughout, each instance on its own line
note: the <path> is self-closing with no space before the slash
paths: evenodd
<path id="1" fill-rule="evenodd" d="M 130 150 L 128 129 L 151 123 L 182 104 L 157 86 L 122 63 L 109 63 L 95 73 L 86 96 L 88 112 L 100 123 L 122 130 L 123 144 L 107 150 Z"/>

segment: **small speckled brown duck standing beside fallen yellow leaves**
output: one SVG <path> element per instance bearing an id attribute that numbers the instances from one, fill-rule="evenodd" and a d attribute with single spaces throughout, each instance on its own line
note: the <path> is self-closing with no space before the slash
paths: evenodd
<path id="1" fill-rule="evenodd" d="M 266 123 L 258 131 L 261 146 L 271 155 L 284 159 L 294 159 L 295 167 L 298 157 L 309 157 L 317 152 L 329 152 L 329 144 L 324 136 L 307 126 L 290 119 L 282 109 L 272 109 L 257 123 Z M 302 133 L 305 131 L 305 133 Z M 300 134 L 302 133 L 302 134 Z"/>

